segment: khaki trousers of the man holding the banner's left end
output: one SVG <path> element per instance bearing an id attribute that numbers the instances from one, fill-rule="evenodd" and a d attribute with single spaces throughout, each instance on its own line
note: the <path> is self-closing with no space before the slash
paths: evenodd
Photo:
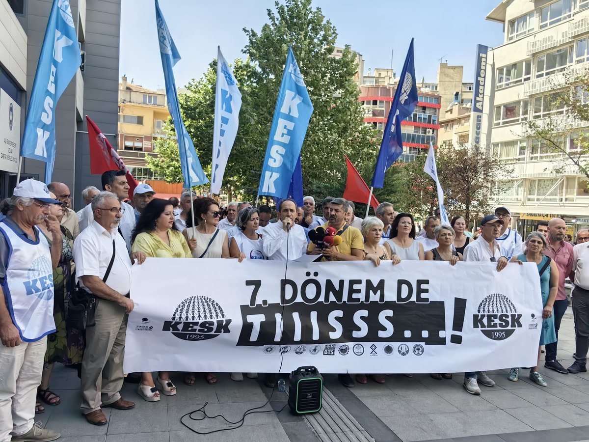
<path id="1" fill-rule="evenodd" d="M 98 301 L 96 325 L 86 329 L 82 359 L 81 390 L 83 414 L 100 410 L 121 397 L 127 315 L 125 309 L 105 299 Z"/>

